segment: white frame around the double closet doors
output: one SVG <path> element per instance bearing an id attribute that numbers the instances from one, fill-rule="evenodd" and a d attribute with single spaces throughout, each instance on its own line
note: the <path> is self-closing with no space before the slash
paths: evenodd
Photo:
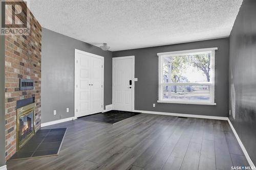
<path id="1" fill-rule="evenodd" d="M 77 69 L 77 53 L 82 53 L 91 57 L 96 57 L 102 59 L 102 111 L 104 110 L 104 57 L 98 56 L 96 54 L 84 52 L 81 50 L 75 49 L 75 57 L 74 57 L 74 64 L 75 64 L 75 70 L 74 70 L 74 117 L 77 118 L 77 107 L 76 107 L 76 69 Z"/>

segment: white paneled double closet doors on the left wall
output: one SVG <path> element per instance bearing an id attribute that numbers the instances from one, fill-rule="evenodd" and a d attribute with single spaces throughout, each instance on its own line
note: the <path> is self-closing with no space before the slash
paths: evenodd
<path id="1" fill-rule="evenodd" d="M 102 111 L 103 57 L 75 50 L 75 116 Z"/>

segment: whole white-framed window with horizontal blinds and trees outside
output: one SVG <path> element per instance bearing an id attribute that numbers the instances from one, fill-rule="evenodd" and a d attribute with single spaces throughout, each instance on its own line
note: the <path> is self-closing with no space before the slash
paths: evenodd
<path id="1" fill-rule="evenodd" d="M 216 105 L 215 50 L 158 53 L 159 103 Z"/>

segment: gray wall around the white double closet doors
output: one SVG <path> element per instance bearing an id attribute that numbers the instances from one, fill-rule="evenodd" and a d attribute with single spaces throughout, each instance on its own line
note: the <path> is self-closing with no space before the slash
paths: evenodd
<path id="1" fill-rule="evenodd" d="M 104 105 L 112 104 L 112 52 L 42 28 L 41 123 L 74 116 L 75 48 L 104 57 Z"/>

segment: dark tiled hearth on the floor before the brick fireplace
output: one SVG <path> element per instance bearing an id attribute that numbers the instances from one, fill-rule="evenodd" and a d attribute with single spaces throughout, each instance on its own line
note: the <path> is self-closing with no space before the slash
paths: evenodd
<path id="1" fill-rule="evenodd" d="M 67 128 L 38 130 L 10 160 L 58 155 L 66 130 Z"/>

